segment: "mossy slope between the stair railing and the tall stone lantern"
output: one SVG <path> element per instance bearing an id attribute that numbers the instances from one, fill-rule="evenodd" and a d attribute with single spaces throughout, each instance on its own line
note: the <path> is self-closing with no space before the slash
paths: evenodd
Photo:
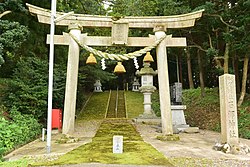
<path id="1" fill-rule="evenodd" d="M 143 94 L 132 91 L 126 91 L 125 94 L 128 118 L 136 118 L 143 114 Z"/>

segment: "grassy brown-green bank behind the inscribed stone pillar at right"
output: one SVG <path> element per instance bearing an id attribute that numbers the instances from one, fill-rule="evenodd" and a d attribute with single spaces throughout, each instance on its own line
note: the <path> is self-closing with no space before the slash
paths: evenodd
<path id="1" fill-rule="evenodd" d="M 201 129 L 220 131 L 220 103 L 218 88 L 205 89 L 206 96 L 201 98 L 200 89 L 183 91 L 183 103 L 187 105 L 185 110 L 186 120 L 191 126 Z M 249 97 L 247 97 L 248 99 Z M 238 109 L 239 136 L 250 139 L 250 108 L 246 100 Z"/>

